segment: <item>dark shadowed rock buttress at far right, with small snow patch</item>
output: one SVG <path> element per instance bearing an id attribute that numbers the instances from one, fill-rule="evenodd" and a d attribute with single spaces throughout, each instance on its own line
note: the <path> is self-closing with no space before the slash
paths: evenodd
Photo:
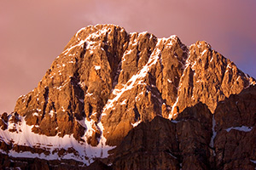
<path id="1" fill-rule="evenodd" d="M 215 112 L 218 169 L 254 169 L 256 164 L 256 87 L 230 95 Z"/>

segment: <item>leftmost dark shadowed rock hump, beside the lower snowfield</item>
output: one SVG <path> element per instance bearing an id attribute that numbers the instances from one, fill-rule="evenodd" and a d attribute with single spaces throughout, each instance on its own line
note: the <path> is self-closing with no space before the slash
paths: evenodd
<path id="1" fill-rule="evenodd" d="M 113 169 L 179 169 L 175 124 L 160 116 L 132 129 L 114 150 Z"/>

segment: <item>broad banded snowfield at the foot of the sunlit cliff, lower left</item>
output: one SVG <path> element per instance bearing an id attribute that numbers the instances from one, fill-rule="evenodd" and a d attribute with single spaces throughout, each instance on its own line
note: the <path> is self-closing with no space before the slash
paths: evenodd
<path id="1" fill-rule="evenodd" d="M 25 118 L 20 117 L 21 123 L 18 126 L 22 133 L 12 133 L 9 132 L 9 130 L 0 130 L 0 136 L 2 137 L 2 140 L 5 143 L 9 143 L 10 140 L 14 141 L 14 144 L 19 145 L 25 145 L 29 147 L 37 146 L 39 148 L 49 150 L 50 154 L 49 156 L 44 155 L 44 153 L 37 154 L 37 153 L 31 153 L 29 151 L 24 152 L 15 152 L 14 150 L 10 150 L 8 155 L 13 157 L 27 157 L 27 158 L 34 158 L 38 157 L 40 159 L 45 160 L 57 160 L 57 159 L 73 159 L 76 161 L 82 161 L 86 165 L 89 165 L 92 163 L 96 157 L 108 157 L 108 150 L 113 149 L 113 146 L 106 145 L 106 139 L 102 136 L 102 138 L 99 140 L 99 144 L 94 147 L 90 144 L 87 144 L 86 142 L 79 142 L 76 139 L 74 139 L 73 134 L 72 135 L 65 135 L 63 138 L 59 136 L 46 136 L 38 133 L 32 133 L 32 127 L 26 125 Z M 82 124 L 82 126 L 87 127 L 87 131 L 92 130 L 91 125 L 93 122 L 86 122 L 84 120 L 79 122 Z M 100 127 L 101 130 L 103 130 L 102 123 L 98 123 L 98 127 Z M 87 133 L 88 134 L 88 133 Z M 86 136 L 82 137 L 84 141 L 87 141 Z M 57 153 L 53 154 L 54 150 L 60 150 L 61 148 L 68 150 L 68 148 L 73 148 L 78 152 L 78 156 L 76 156 L 73 153 L 69 153 L 65 156 L 58 156 Z M 3 151 L 3 150 L 0 150 Z M 85 158 L 87 157 L 87 158 Z"/>

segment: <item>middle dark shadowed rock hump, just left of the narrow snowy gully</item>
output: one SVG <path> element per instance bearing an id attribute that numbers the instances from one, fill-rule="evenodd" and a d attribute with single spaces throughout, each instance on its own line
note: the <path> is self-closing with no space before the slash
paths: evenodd
<path id="1" fill-rule="evenodd" d="M 175 119 L 179 155 L 183 169 L 212 169 L 212 114 L 207 105 L 199 103 L 186 108 Z"/>

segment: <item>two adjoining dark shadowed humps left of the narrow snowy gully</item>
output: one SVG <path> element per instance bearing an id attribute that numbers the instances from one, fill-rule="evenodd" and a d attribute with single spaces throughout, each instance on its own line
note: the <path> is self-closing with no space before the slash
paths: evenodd
<path id="1" fill-rule="evenodd" d="M 201 103 L 175 121 L 155 116 L 133 128 L 112 150 L 113 169 L 211 169 L 212 114 Z"/>

